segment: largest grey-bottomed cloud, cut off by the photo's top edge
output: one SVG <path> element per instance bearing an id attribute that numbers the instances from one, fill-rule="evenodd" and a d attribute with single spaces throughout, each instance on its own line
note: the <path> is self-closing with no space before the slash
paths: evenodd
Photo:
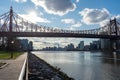
<path id="1" fill-rule="evenodd" d="M 76 9 L 70 0 L 31 0 L 36 6 L 42 7 L 47 13 L 63 16 Z"/>

